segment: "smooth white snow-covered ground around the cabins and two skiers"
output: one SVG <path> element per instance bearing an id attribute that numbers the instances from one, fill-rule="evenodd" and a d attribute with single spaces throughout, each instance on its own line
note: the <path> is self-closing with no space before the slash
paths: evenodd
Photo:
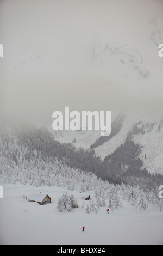
<path id="1" fill-rule="evenodd" d="M 106 207 L 97 214 L 87 214 L 82 209 L 82 197 L 91 194 L 93 198 L 91 191 L 0 181 L 4 188 L 4 198 L 0 199 L 1 245 L 163 245 L 163 213 L 138 212 L 123 200 L 123 207 L 109 214 Z M 23 198 L 33 192 L 49 194 L 52 203 L 39 205 Z M 74 195 L 79 208 L 60 212 L 57 202 L 66 192 Z"/>

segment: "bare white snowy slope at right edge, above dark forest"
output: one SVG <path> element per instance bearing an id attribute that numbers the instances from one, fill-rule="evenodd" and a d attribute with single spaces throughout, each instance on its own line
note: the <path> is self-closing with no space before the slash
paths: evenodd
<path id="1" fill-rule="evenodd" d="M 137 117 L 126 116 L 121 131 L 95 149 L 95 154 L 103 160 L 107 155 L 113 153 L 121 143 L 126 141 L 129 132 L 133 133 L 133 141 L 140 144 L 140 158 L 143 161 L 143 168 L 147 168 L 150 173 L 163 174 L 163 127 L 161 117 L 150 117 L 150 115 L 139 115 Z M 138 134 L 135 133 L 135 127 L 139 127 Z M 160 129 L 158 129 L 160 127 Z M 137 132 L 136 132 L 137 133 Z M 145 158 L 146 155 L 146 158 Z"/>

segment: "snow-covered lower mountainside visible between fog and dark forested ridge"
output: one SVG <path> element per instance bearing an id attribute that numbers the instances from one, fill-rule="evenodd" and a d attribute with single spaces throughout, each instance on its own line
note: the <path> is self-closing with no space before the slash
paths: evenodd
<path id="1" fill-rule="evenodd" d="M 150 173 L 163 174 L 163 121 L 161 115 L 152 114 L 123 114 L 120 130 L 118 120 L 112 118 L 112 132 L 109 137 L 100 137 L 98 131 L 58 131 L 53 132 L 54 138 L 61 143 L 72 143 L 76 150 L 94 150 L 95 155 L 103 161 L 106 156 L 114 153 L 130 136 L 131 140 L 139 143 L 140 159 L 143 167 Z M 114 122 L 115 121 L 115 122 Z"/>

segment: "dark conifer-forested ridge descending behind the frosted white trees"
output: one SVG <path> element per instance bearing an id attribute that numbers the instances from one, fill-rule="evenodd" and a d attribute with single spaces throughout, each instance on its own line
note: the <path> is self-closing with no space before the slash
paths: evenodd
<path id="1" fill-rule="evenodd" d="M 42 172 L 47 169 L 49 176 L 48 170 L 51 173 L 53 165 L 59 162 L 61 168 L 66 166 L 79 172 L 93 173 L 98 179 L 112 184 L 139 185 L 147 189 L 160 186 L 163 176 L 148 172 L 145 162 L 140 158 L 140 144 L 135 143 L 132 136 L 133 133 L 128 133 L 124 142 L 112 153 L 107 153 L 102 161 L 95 149 L 77 150 L 75 143 L 60 143 L 47 129 L 32 126 L 1 130 L 1 173 L 5 176 L 9 172 L 14 179 L 17 175 L 21 179 L 21 173 L 26 176 L 27 172 L 30 177 L 30 172 L 34 170 L 38 173 L 39 170 Z"/>

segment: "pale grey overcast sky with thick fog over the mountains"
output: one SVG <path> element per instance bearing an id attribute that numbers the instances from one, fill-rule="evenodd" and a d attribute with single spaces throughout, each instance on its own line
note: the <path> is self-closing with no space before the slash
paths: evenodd
<path id="1" fill-rule="evenodd" d="M 162 7 L 157 0 L 0 0 L 1 114 L 49 124 L 52 113 L 65 106 L 72 111 L 137 106 L 158 111 L 163 58 L 151 37 L 158 33 L 163 38 Z M 139 49 L 150 78 L 129 73 L 130 84 L 121 82 L 116 66 L 109 75 L 98 66 L 106 44 Z"/>

